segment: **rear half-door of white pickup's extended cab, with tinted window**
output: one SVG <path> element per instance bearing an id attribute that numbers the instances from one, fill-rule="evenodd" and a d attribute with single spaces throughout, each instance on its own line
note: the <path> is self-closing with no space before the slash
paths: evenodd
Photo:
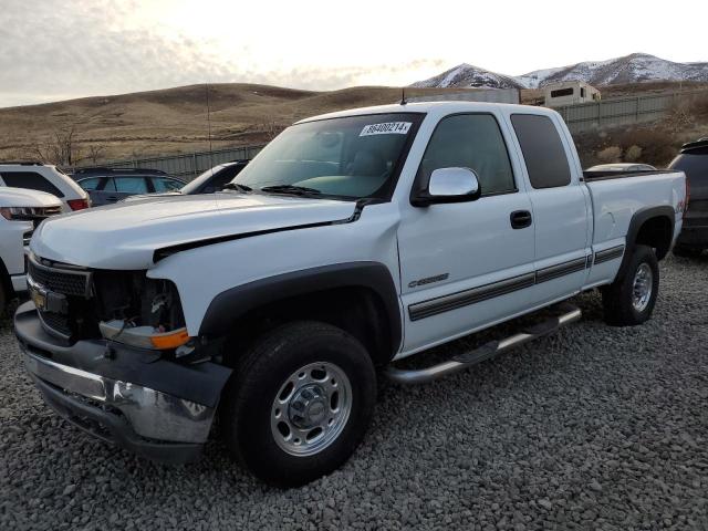
<path id="1" fill-rule="evenodd" d="M 535 226 L 534 299 L 544 304 L 580 291 L 591 251 L 591 201 L 571 165 L 575 152 L 555 116 L 511 114 L 525 166 Z"/>

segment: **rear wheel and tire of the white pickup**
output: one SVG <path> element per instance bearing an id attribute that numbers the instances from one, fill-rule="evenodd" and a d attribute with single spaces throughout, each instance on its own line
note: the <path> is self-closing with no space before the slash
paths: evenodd
<path id="1" fill-rule="evenodd" d="M 644 323 L 652 316 L 658 291 L 659 266 L 654 250 L 635 246 L 624 275 L 601 290 L 605 322 L 613 326 Z"/>

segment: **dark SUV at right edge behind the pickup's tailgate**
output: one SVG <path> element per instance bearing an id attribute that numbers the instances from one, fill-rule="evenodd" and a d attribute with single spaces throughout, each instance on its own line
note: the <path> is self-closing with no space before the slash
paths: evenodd
<path id="1" fill-rule="evenodd" d="M 708 138 L 684 144 L 669 168 L 684 171 L 690 198 L 674 253 L 695 257 L 708 249 Z"/>

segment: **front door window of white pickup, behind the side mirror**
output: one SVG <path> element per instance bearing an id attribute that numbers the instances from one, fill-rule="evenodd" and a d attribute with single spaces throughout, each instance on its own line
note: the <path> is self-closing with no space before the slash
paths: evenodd
<path id="1" fill-rule="evenodd" d="M 473 169 L 483 196 L 516 191 L 507 146 L 490 114 L 442 118 L 425 150 L 418 183 L 425 189 L 433 170 L 451 167 Z"/>

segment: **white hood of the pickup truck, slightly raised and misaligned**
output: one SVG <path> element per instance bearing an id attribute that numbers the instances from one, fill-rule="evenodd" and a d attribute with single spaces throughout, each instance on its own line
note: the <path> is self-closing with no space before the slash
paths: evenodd
<path id="1" fill-rule="evenodd" d="M 159 197 L 48 219 L 30 249 L 96 269 L 149 269 L 166 247 L 346 219 L 355 204 L 260 194 Z"/>

